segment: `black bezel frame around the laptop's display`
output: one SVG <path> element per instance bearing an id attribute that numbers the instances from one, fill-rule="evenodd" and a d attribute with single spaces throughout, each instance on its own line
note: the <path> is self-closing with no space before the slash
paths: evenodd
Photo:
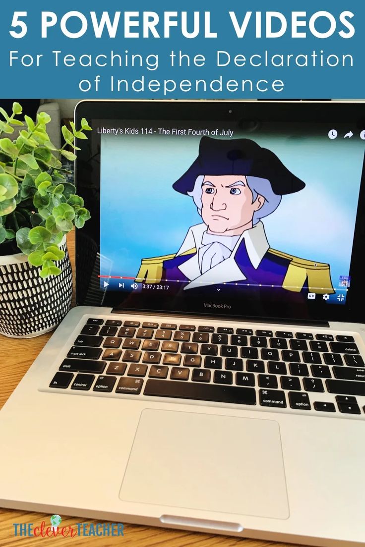
<path id="1" fill-rule="evenodd" d="M 362 102 L 335 101 L 82 101 L 75 110 L 77 126 L 82 118 L 92 120 L 215 120 L 229 121 L 265 120 L 275 123 L 290 121 L 300 123 L 350 123 L 358 132 L 365 127 L 365 104 Z M 177 301 L 168 295 L 134 297 L 132 305 L 128 294 L 101 290 L 96 272 L 100 253 L 100 135 L 88 133 L 88 141 L 77 139 L 75 179 L 77 192 L 83 196 L 91 219 L 84 228 L 76 230 L 76 300 L 78 305 L 112 307 L 115 310 L 181 313 L 190 316 L 222 316 L 222 313 L 205 311 L 202 305 L 192 306 L 192 299 Z M 351 289 L 346 304 L 323 306 L 246 305 L 244 313 L 227 312 L 237 319 L 292 322 L 360 322 L 365 323 L 362 292 L 362 253 L 365 236 L 365 169 L 363 167 L 360 195 L 355 225 L 355 237 L 350 264 Z M 206 297 L 204 298 L 206 300 Z M 138 301 L 137 301 L 138 300 Z M 178 309 L 177 309 L 178 305 Z M 227 315 L 224 314 L 224 317 Z"/>

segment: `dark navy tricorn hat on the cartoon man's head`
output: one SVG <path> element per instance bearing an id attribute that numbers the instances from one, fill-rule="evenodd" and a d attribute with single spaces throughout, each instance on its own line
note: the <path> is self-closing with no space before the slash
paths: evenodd
<path id="1" fill-rule="evenodd" d="M 172 187 L 181 194 L 194 189 L 199 175 L 241 174 L 268 179 L 274 194 L 282 196 L 303 190 L 305 184 L 282 164 L 279 158 L 247 138 L 214 139 L 202 137 L 198 158 Z"/>

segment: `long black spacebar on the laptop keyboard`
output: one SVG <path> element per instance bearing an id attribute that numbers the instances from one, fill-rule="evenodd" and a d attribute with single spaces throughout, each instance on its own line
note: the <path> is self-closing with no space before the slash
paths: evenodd
<path id="1" fill-rule="evenodd" d="M 144 395 L 256 405 L 256 391 L 251 387 L 218 386 L 178 380 L 147 380 Z"/>

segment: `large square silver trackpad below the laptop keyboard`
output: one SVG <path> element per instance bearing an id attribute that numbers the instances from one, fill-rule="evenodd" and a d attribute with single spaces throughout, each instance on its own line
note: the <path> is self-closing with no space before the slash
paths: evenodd
<path id="1" fill-rule="evenodd" d="M 144 410 L 119 496 L 123 501 L 287 519 L 279 424 Z"/>

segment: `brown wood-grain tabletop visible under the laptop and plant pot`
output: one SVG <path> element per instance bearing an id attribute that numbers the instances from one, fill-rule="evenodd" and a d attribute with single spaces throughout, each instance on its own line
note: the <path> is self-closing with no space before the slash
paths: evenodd
<path id="1" fill-rule="evenodd" d="M 74 237 L 68 236 L 68 249 L 74 270 Z M 33 360 L 42 350 L 51 334 L 44 334 L 28 340 L 14 340 L 0 335 L 1 353 L 6 356 L 6 363 L 2 365 L 0 381 L 0 408 L 9 395 L 14 391 L 21 378 L 24 376 Z M 68 518 L 62 516 L 62 526 L 74 525 L 77 522 L 100 522 L 92 519 Z M 15 537 L 14 522 L 33 522 L 39 526 L 45 520 L 49 526 L 50 514 L 28 513 L 27 511 L 13 511 L 0 509 L 0 545 L 10 547 L 13 545 L 28 547 L 29 545 L 97 545 L 109 547 L 109 545 L 136 545 L 138 547 L 284 547 L 287 544 L 277 542 L 264 542 L 253 539 L 237 539 L 233 537 L 217 536 L 215 534 L 201 534 L 184 532 L 181 530 L 168 530 L 164 528 L 152 528 L 136 526 L 125 523 L 124 537 L 75 537 L 75 538 L 35 538 Z"/>

